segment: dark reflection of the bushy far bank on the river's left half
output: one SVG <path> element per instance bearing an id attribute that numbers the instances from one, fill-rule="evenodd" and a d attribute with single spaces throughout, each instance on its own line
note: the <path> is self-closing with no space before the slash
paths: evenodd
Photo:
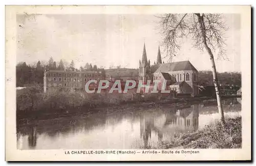
<path id="1" fill-rule="evenodd" d="M 129 108 L 127 108 L 129 109 Z M 124 109 L 125 111 L 125 109 Z M 54 138 L 57 134 L 72 134 L 77 132 L 86 132 L 89 130 L 95 130 L 102 126 L 114 126 L 122 121 L 125 117 L 131 118 L 132 121 L 136 116 L 136 113 L 132 111 L 113 111 L 112 113 L 104 111 L 94 112 L 91 114 L 74 115 L 66 117 L 58 117 L 51 120 L 35 120 L 30 121 L 31 124 L 36 124 L 37 134 L 47 134 Z M 31 128 L 28 125 L 17 124 L 17 132 L 21 132 L 23 135 L 30 135 L 32 140 Z"/>

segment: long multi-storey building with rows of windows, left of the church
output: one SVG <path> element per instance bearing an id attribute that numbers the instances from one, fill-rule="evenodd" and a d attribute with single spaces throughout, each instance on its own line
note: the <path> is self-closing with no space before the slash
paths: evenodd
<path id="1" fill-rule="evenodd" d="M 89 80 L 103 80 L 101 72 L 73 71 L 73 70 L 48 70 L 44 76 L 44 91 L 54 90 L 85 90 Z M 90 84 L 92 85 L 92 84 Z M 93 86 L 93 85 L 92 85 Z"/>

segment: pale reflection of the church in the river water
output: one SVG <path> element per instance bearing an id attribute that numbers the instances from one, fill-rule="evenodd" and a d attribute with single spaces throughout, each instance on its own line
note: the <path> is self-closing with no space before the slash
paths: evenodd
<path id="1" fill-rule="evenodd" d="M 141 115 L 140 116 L 140 137 L 144 142 L 144 147 L 152 139 L 152 134 L 157 135 L 158 141 L 162 141 L 163 136 L 174 136 L 176 132 L 196 131 L 199 121 L 199 104 L 186 108 L 172 108 L 163 115 Z"/>

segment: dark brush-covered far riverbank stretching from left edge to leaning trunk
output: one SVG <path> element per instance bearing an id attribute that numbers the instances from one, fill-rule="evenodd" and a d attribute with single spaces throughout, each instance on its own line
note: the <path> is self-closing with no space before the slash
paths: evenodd
<path id="1" fill-rule="evenodd" d="M 84 93 L 52 92 L 42 93 L 35 87 L 20 89 L 16 93 L 17 120 L 23 118 L 49 118 L 58 115 L 72 115 L 77 112 L 90 112 L 95 108 L 121 106 L 157 107 L 161 105 L 184 106 L 189 103 L 216 101 L 210 97 L 187 97 L 166 99 L 160 93 Z"/>

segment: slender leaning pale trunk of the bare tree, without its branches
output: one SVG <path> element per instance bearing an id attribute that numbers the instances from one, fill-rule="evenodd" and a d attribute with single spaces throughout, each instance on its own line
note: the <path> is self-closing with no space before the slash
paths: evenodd
<path id="1" fill-rule="evenodd" d="M 223 108 L 222 108 L 222 104 L 221 104 L 220 86 L 219 86 L 218 78 L 217 78 L 217 71 L 216 71 L 216 65 L 215 65 L 215 61 L 214 61 L 214 55 L 212 54 L 212 52 L 206 42 L 204 15 L 202 14 L 202 16 L 200 16 L 199 13 L 197 13 L 196 15 L 198 16 L 198 20 L 199 20 L 199 25 L 200 25 L 200 29 L 201 29 L 201 33 L 202 33 L 204 48 L 210 56 L 210 62 L 212 65 L 212 74 L 214 76 L 214 86 L 215 86 L 215 90 L 216 90 L 218 110 L 219 110 L 219 113 L 221 114 L 221 122 L 222 122 L 222 124 L 225 124 L 224 112 L 223 112 Z"/>

